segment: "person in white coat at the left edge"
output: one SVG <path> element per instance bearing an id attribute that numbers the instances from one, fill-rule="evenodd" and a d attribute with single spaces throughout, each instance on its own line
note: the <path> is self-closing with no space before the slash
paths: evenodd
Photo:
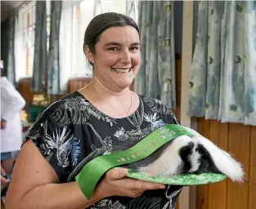
<path id="1" fill-rule="evenodd" d="M 8 81 L 7 72 L 1 63 L 1 182 L 5 183 L 11 175 L 14 159 L 13 152 L 20 150 L 22 127 L 20 110 L 25 107 L 25 100 L 19 91 Z"/>

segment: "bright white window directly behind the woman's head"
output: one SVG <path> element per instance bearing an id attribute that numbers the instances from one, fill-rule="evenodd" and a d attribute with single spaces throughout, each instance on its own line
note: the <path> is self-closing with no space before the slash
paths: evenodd
<path id="1" fill-rule="evenodd" d="M 94 16 L 103 12 L 115 11 L 127 14 L 127 5 L 133 6 L 131 14 L 137 13 L 137 1 L 121 0 L 84 0 L 73 7 L 73 42 L 72 42 L 72 68 L 71 77 L 90 77 L 91 71 L 88 69 L 86 57 L 83 54 L 83 36 L 89 22 Z M 132 16 L 137 21 L 135 16 Z"/>

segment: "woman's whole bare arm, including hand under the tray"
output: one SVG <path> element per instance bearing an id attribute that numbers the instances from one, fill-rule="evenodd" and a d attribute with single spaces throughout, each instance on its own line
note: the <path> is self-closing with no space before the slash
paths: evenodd
<path id="1" fill-rule="evenodd" d="M 56 184 L 56 172 L 43 158 L 32 140 L 20 150 L 7 191 L 7 209 L 83 209 L 110 197 L 136 198 L 148 189 L 164 189 L 161 184 L 125 178 L 127 169 L 111 169 L 88 200 L 76 182 Z"/>

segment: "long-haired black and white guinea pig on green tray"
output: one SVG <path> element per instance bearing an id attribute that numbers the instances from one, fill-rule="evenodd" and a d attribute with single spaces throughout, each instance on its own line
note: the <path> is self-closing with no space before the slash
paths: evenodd
<path id="1" fill-rule="evenodd" d="M 126 167 L 146 176 L 177 176 L 179 174 L 214 172 L 242 182 L 245 173 L 240 162 L 203 136 L 179 136 L 150 157 Z"/>

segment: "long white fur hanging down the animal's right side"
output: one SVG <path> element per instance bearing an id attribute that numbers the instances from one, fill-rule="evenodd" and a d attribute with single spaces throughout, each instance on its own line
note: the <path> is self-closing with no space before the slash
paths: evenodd
<path id="1" fill-rule="evenodd" d="M 192 140 L 195 144 L 202 145 L 207 150 L 218 171 L 233 181 L 242 182 L 244 180 L 245 173 L 240 162 L 237 162 L 230 154 L 219 149 L 217 145 L 202 136 L 193 136 Z"/>

